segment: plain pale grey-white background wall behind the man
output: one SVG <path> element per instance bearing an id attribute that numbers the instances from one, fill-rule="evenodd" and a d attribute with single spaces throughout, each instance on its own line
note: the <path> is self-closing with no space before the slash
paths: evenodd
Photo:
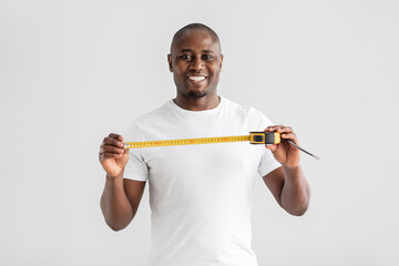
<path id="1" fill-rule="evenodd" d="M 175 96 L 173 34 L 221 38 L 219 93 L 291 125 L 305 216 L 255 185 L 259 266 L 399 265 L 398 1 L 0 1 L 0 265 L 144 265 L 147 187 L 104 223 L 102 139 Z"/>

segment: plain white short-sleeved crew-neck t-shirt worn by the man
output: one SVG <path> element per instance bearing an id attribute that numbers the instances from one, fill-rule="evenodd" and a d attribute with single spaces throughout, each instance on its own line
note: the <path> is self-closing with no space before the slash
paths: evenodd
<path id="1" fill-rule="evenodd" d="M 248 135 L 268 125 L 259 111 L 223 96 L 206 111 L 184 110 L 170 100 L 139 117 L 125 140 Z M 124 178 L 150 184 L 150 265 L 256 266 L 253 185 L 279 166 L 264 145 L 249 142 L 131 149 Z"/>

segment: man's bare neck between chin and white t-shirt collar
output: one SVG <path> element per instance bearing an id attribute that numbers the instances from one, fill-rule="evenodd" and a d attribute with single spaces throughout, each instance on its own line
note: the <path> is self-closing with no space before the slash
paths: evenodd
<path id="1" fill-rule="evenodd" d="M 177 104 L 177 106 L 188 111 L 205 111 L 217 108 L 221 99 L 215 92 L 211 95 L 198 99 L 177 94 L 173 101 L 175 104 Z"/>

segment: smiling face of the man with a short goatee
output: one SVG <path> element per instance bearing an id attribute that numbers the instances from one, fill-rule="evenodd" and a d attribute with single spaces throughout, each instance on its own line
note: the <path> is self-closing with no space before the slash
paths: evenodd
<path id="1" fill-rule="evenodd" d="M 167 55 L 177 96 L 203 98 L 216 92 L 222 71 L 221 45 L 205 30 L 191 30 L 176 40 Z"/>

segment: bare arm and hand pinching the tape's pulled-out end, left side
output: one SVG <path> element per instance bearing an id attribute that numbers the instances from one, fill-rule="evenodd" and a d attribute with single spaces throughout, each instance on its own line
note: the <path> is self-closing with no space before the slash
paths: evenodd
<path id="1" fill-rule="evenodd" d="M 106 224 L 113 231 L 125 228 L 133 219 L 142 198 L 145 182 L 123 180 L 129 151 L 123 149 L 123 137 L 110 134 L 100 147 L 100 162 L 106 172 L 100 205 Z"/>

